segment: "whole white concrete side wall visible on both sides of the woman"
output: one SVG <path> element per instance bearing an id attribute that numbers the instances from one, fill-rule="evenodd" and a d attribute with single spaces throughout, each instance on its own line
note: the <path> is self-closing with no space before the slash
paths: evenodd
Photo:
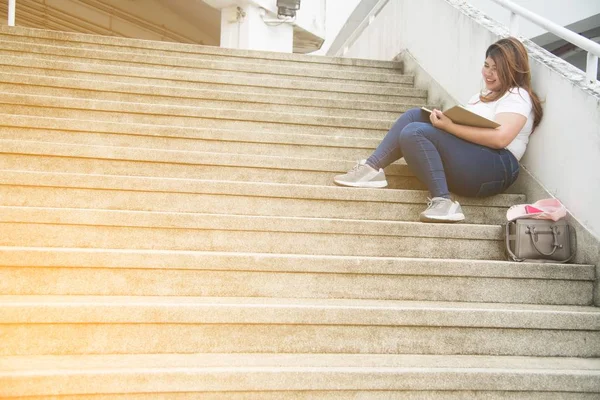
<path id="1" fill-rule="evenodd" d="M 454 99 L 464 102 L 483 88 L 480 69 L 485 50 L 507 35 L 504 26 L 462 1 L 390 0 L 346 56 L 391 60 L 409 51 L 433 80 L 432 87 L 447 92 L 444 96 L 432 91 L 430 103 L 447 106 Z M 600 86 L 586 85 L 583 72 L 532 42 L 525 44 L 545 117 L 522 159 L 527 172 L 517 188 L 531 201 L 548 195 L 560 199 L 580 227 L 578 262 L 598 265 Z M 600 304 L 600 290 L 596 300 Z"/>

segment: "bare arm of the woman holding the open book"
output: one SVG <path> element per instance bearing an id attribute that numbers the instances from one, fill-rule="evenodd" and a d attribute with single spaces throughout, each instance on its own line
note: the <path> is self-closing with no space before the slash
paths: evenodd
<path id="1" fill-rule="evenodd" d="M 525 126 L 527 118 L 517 113 L 496 114 L 496 122 L 500 126 L 496 129 L 476 128 L 474 126 L 455 124 L 440 110 L 433 110 L 429 116 L 431 124 L 438 129 L 453 134 L 468 142 L 503 149 L 513 141 Z"/>

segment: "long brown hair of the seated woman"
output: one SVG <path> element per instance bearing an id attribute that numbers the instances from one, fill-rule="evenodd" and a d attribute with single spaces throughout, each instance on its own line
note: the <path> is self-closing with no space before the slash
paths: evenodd
<path id="1" fill-rule="evenodd" d="M 488 47 L 485 58 L 490 57 L 496 63 L 496 71 L 500 80 L 500 90 L 480 96 L 484 103 L 496 101 L 509 89 L 519 87 L 527 90 L 533 103 L 533 129 L 535 129 L 544 114 L 540 99 L 531 89 L 531 70 L 525 46 L 518 39 L 508 37 L 500 39 Z"/>

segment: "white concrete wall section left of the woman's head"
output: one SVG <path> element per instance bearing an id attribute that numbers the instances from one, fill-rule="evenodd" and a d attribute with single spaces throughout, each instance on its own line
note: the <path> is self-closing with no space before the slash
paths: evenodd
<path id="1" fill-rule="evenodd" d="M 452 97 L 464 102 L 483 88 L 485 50 L 498 37 L 449 1 L 390 0 L 346 57 L 391 60 L 408 49 Z"/>

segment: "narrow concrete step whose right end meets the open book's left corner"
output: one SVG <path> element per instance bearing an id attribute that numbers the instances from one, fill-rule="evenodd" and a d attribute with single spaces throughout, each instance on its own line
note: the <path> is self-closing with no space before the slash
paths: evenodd
<path id="1" fill-rule="evenodd" d="M 38 90 L 40 94 L 52 95 L 55 89 L 69 90 L 78 93 L 94 93 L 94 96 L 105 96 L 105 100 L 110 100 L 108 96 L 113 96 L 112 99 L 118 99 L 116 96 L 123 96 L 123 99 L 131 98 L 137 95 L 138 98 L 148 98 L 160 100 L 162 104 L 179 104 L 179 105 L 194 105 L 199 99 L 213 101 L 231 101 L 252 102 L 260 104 L 276 104 L 299 107 L 318 107 L 322 109 L 350 109 L 350 110 L 365 110 L 391 112 L 396 116 L 405 112 L 412 104 L 376 102 L 376 101 L 353 101 L 353 100 L 332 100 L 323 102 L 321 98 L 312 98 L 309 96 L 283 96 L 268 93 L 239 93 L 235 90 L 199 90 L 186 89 L 181 87 L 156 86 L 156 85 L 141 85 L 130 83 L 119 83 L 113 81 L 101 81 L 99 79 L 72 79 L 60 77 L 46 77 L 40 75 L 29 75 L 19 73 L 3 73 L 0 72 L 0 82 L 2 90 L 7 92 L 15 92 L 15 88 L 19 90 Z M 43 91 L 43 92 L 42 92 Z M 73 96 L 66 96 L 73 97 Z M 418 100 L 418 99 L 416 99 Z M 126 100 L 123 100 L 126 101 Z M 135 102 L 140 102 L 136 100 Z"/>

